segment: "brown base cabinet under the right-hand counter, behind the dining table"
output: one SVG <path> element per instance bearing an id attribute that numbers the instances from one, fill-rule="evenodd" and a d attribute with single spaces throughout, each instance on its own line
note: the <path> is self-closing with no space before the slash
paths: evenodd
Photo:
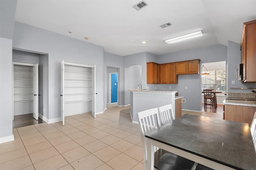
<path id="1" fill-rule="evenodd" d="M 230 121 L 238 121 L 243 123 L 252 123 L 252 119 L 256 107 L 253 106 L 239 106 L 239 105 L 224 105 L 223 119 Z"/>

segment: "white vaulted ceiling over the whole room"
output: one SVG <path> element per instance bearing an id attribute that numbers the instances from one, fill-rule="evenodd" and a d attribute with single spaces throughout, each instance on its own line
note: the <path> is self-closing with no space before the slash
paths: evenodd
<path id="1" fill-rule="evenodd" d="M 256 20 L 256 0 L 144 0 L 148 6 L 138 11 L 132 8 L 140 1 L 18 0 L 15 20 L 100 45 L 121 56 L 240 43 L 243 23 Z M 168 22 L 172 25 L 160 27 Z M 204 36 L 164 42 L 198 30 Z"/>

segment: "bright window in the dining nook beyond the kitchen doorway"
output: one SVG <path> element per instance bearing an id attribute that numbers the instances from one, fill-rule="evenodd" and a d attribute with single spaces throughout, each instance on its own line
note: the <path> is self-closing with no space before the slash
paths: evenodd
<path id="1" fill-rule="evenodd" d="M 211 70 L 210 74 L 202 75 L 202 90 L 214 89 L 216 92 L 226 92 L 226 70 Z"/>

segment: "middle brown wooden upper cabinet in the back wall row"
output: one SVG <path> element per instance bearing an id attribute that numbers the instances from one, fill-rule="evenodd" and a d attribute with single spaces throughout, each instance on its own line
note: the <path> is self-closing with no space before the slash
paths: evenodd
<path id="1" fill-rule="evenodd" d="M 176 75 L 176 63 L 160 64 L 159 70 L 160 84 L 178 83 L 178 76 Z"/>

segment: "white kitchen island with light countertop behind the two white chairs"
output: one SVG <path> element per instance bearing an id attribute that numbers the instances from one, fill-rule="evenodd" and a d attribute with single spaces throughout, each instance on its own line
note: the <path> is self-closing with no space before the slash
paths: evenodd
<path id="1" fill-rule="evenodd" d="M 177 90 L 128 89 L 130 91 L 130 115 L 138 123 L 137 113 L 154 107 L 172 104 L 175 117 L 175 93 Z"/>

